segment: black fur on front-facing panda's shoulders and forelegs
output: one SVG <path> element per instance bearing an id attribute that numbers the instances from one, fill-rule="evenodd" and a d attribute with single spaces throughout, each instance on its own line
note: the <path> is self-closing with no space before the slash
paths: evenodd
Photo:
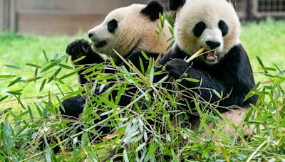
<path id="1" fill-rule="evenodd" d="M 235 45 L 224 58 L 219 60 L 219 63 L 215 65 L 208 65 L 197 59 L 193 60 L 191 65 L 187 63 L 184 58 L 187 58 L 187 54 L 180 50 L 176 46 L 174 50 L 165 55 L 160 60 L 161 65 L 166 66 L 168 74 L 177 79 L 182 79 L 180 84 L 183 87 L 192 88 L 199 87 L 200 82 L 190 82 L 185 80 L 186 73 L 188 78 L 196 80 L 202 80 L 201 88 L 193 89 L 195 93 L 200 95 L 207 102 L 217 102 L 219 97 L 214 95 L 209 90 L 203 88 L 210 88 L 217 90 L 217 92 L 223 92 L 224 97 L 229 94 L 229 97 L 219 102 L 217 110 L 219 112 L 225 112 L 227 109 L 222 107 L 239 106 L 245 107 L 247 105 L 257 102 L 257 96 L 251 97 L 244 101 L 247 93 L 254 87 L 254 77 L 252 75 L 252 68 L 249 63 L 249 58 L 242 45 Z M 160 70 L 158 68 L 157 70 Z M 159 81 L 163 75 L 157 75 L 155 82 Z M 185 95 L 192 95 L 193 92 L 185 92 Z M 192 99 L 187 99 L 190 106 L 195 107 Z"/>

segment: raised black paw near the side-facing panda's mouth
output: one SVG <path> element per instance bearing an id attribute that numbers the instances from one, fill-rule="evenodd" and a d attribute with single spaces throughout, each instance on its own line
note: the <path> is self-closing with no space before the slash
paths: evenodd
<path id="1" fill-rule="evenodd" d="M 90 43 L 84 39 L 78 39 L 68 44 L 66 48 L 66 53 L 71 55 L 73 60 L 81 58 L 84 55 L 88 54 L 88 51 L 91 49 Z"/>

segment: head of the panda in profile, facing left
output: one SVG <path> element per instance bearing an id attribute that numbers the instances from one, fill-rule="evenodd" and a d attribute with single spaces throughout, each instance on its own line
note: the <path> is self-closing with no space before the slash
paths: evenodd
<path id="1" fill-rule="evenodd" d="M 93 48 L 98 53 L 118 60 L 113 49 L 125 57 L 133 50 L 152 53 L 166 53 L 170 38 L 169 24 L 165 23 L 163 34 L 157 34 L 160 24 L 159 13 L 163 7 L 156 1 L 150 4 L 133 4 L 108 13 L 103 23 L 88 32 Z M 166 38 L 165 38 L 166 37 Z"/>

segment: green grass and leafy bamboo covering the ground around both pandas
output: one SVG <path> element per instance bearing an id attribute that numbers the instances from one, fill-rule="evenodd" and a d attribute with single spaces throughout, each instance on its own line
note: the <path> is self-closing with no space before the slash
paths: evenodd
<path id="1" fill-rule="evenodd" d="M 82 131 L 81 141 L 77 141 L 76 135 L 73 134 L 72 137 L 75 139 L 73 138 L 74 143 L 71 147 L 76 149 L 71 152 L 54 154 L 50 148 L 57 142 L 46 147 L 45 151 L 39 151 L 38 143 L 33 141 L 36 140 L 43 126 L 50 126 L 54 136 L 59 136 L 62 130 L 64 132 L 66 129 L 67 122 L 58 116 L 56 119 L 48 119 L 49 113 L 58 114 L 58 99 L 62 101 L 67 97 L 81 94 L 82 90 L 76 75 L 68 75 L 74 72 L 70 67 L 70 60 L 61 57 L 66 56 L 66 45 L 81 37 L 86 38 L 84 34 L 72 37 L 19 36 L 7 32 L 0 35 L 0 100 L 4 99 L 0 103 L 0 161 L 21 161 L 27 158 L 31 161 L 83 161 L 86 158 L 89 161 L 95 161 L 102 159 L 108 150 L 113 145 L 119 144 L 123 138 L 130 143 L 126 146 L 123 156 L 133 161 L 138 156 L 137 151 L 141 151 L 141 154 L 146 153 L 150 161 L 153 159 L 161 161 L 165 156 L 173 158 L 173 161 L 185 158 L 197 161 L 225 161 L 227 158 L 230 161 L 284 161 L 285 78 L 284 72 L 279 71 L 274 65 L 281 70 L 285 69 L 285 21 L 268 19 L 260 23 L 242 23 L 241 42 L 249 54 L 254 72 L 258 72 L 254 75 L 255 80 L 257 82 L 270 80 L 252 90 L 253 94 L 258 94 L 260 97 L 259 102 L 252 106 L 252 112 L 249 112 L 244 119 L 244 126 L 252 125 L 256 128 L 257 134 L 250 139 L 241 137 L 237 140 L 235 136 L 227 136 L 222 141 L 214 141 L 204 139 L 200 131 L 190 131 L 187 126 L 174 128 L 170 124 L 170 115 L 167 110 L 173 109 L 177 103 L 175 97 L 165 95 L 163 92 L 154 92 L 152 95 L 155 96 L 155 101 L 147 104 L 148 109 L 140 110 L 136 107 L 136 112 L 124 107 L 117 109 L 116 101 L 108 101 L 107 92 L 95 97 L 88 95 L 96 104 L 88 105 L 81 120 L 73 122 L 81 124 L 85 129 L 90 129 L 90 133 L 94 134 L 93 108 L 102 107 L 102 102 L 105 102 L 110 121 L 114 126 L 120 126 L 117 128 L 118 137 L 99 144 L 91 144 L 91 141 L 86 138 L 88 132 Z M 46 51 L 48 59 L 43 55 L 43 50 Z M 260 65 L 262 63 L 259 63 L 256 56 L 261 58 L 264 67 Z M 27 63 L 41 66 L 41 68 L 35 72 L 36 68 L 26 65 Z M 10 68 L 6 65 L 10 65 Z M 58 69 L 61 71 L 55 75 Z M 114 88 L 122 90 L 121 92 L 124 91 L 125 85 L 130 84 L 128 80 L 131 80 L 133 85 L 141 87 L 141 90 L 150 88 L 150 84 L 143 82 L 140 77 L 126 72 L 123 68 L 118 70 L 118 74 L 112 77 L 120 80 Z M 93 81 L 100 85 L 105 75 L 102 74 Z M 152 75 L 149 71 L 145 77 L 148 79 Z M 34 78 L 35 76 L 41 78 Z M 61 79 L 65 76 L 66 78 Z M 21 79 L 18 79 L 20 77 Z M 107 75 L 107 77 L 110 76 Z M 51 82 L 47 83 L 47 80 Z M 7 87 L 8 85 L 11 86 Z M 21 89 L 24 90 L 19 95 L 16 90 Z M 85 90 L 87 94 L 90 92 L 88 87 Z M 72 93 L 69 94 L 69 92 Z M 118 97 L 120 95 L 119 92 Z M 147 95 L 150 96 L 150 94 Z M 32 98 L 26 99 L 27 97 Z M 135 95 L 136 97 L 138 96 Z M 132 108 L 135 106 L 136 104 L 132 105 Z M 213 116 L 212 113 L 204 112 L 200 118 L 217 121 L 218 115 Z M 146 132 L 147 119 L 159 122 L 162 127 L 153 126 L 150 130 L 152 136 L 140 136 L 142 132 Z M 259 126 L 263 126 L 264 130 L 259 129 Z M 137 134 L 138 132 L 140 133 Z M 242 134 L 242 131 L 237 133 Z M 186 139 L 190 142 L 185 143 Z M 145 145 L 146 142 L 149 145 Z"/>

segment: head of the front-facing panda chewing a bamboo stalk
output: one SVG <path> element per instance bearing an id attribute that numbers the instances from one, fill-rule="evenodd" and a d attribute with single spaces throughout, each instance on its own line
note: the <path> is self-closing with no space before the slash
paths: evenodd
<path id="1" fill-rule="evenodd" d="M 226 0 L 170 0 L 176 9 L 175 41 L 188 55 L 200 48 L 214 50 L 198 59 L 209 65 L 218 63 L 239 43 L 239 18 Z"/>

